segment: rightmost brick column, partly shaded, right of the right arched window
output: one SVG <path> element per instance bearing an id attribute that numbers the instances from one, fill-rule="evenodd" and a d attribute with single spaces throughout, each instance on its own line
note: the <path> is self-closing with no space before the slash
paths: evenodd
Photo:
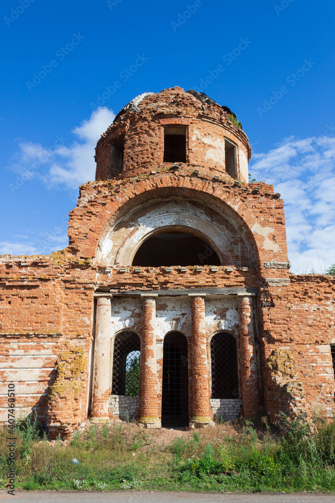
<path id="1" fill-rule="evenodd" d="M 245 416 L 255 416 L 260 413 L 260 395 L 253 305 L 249 296 L 239 298 L 239 324 L 243 413 Z"/>

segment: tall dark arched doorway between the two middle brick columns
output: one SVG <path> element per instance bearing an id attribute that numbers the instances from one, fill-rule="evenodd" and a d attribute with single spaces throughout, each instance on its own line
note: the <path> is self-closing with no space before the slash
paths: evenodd
<path id="1" fill-rule="evenodd" d="M 163 345 L 162 426 L 188 426 L 187 339 L 170 332 Z"/>

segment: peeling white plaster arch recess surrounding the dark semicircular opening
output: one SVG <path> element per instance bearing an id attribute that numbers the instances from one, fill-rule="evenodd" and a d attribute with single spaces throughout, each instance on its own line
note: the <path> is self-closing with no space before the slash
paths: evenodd
<path id="1" fill-rule="evenodd" d="M 104 230 L 96 260 L 103 266 L 132 265 L 136 251 L 149 237 L 165 230 L 178 229 L 207 242 L 216 251 L 221 264 L 230 262 L 233 265 L 234 257 L 241 253 L 243 246 L 246 246 L 251 261 L 250 247 L 244 244 L 245 236 L 234 225 L 228 229 L 230 224 L 231 219 L 226 215 L 200 201 L 178 197 L 153 200 L 133 208 L 113 227 Z M 237 240 L 240 244 L 236 243 Z"/>

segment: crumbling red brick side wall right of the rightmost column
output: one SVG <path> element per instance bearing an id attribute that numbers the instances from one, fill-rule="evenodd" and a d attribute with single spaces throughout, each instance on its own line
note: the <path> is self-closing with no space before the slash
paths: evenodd
<path id="1" fill-rule="evenodd" d="M 274 306 L 261 310 L 263 377 L 268 379 L 265 362 L 272 352 L 279 348 L 289 351 L 298 368 L 297 380 L 304 389 L 307 412 L 332 417 L 335 381 L 330 344 L 335 343 L 334 278 L 290 274 L 290 280 L 285 288 L 269 289 L 268 298 Z M 268 386 L 263 387 L 264 403 L 273 416 L 276 401 L 267 392 Z"/>

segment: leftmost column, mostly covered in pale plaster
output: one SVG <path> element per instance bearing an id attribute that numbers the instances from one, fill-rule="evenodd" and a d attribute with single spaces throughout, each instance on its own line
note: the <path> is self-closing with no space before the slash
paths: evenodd
<path id="1" fill-rule="evenodd" d="M 109 421 L 108 399 L 110 394 L 110 297 L 98 297 L 94 344 L 94 371 L 91 423 Z"/>

